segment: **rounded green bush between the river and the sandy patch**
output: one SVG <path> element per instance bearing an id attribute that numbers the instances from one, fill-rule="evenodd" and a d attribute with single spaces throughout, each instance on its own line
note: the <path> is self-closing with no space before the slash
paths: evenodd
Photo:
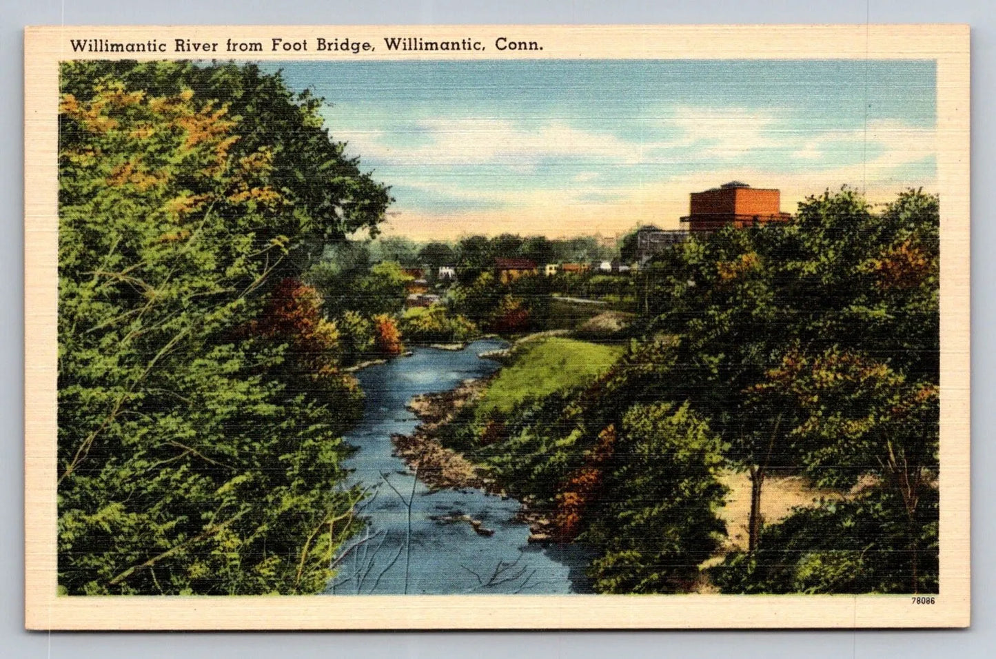
<path id="1" fill-rule="evenodd" d="M 721 445 L 687 405 L 633 405 L 622 419 L 605 494 L 583 539 L 600 592 L 686 591 L 725 535 L 716 509 Z"/>

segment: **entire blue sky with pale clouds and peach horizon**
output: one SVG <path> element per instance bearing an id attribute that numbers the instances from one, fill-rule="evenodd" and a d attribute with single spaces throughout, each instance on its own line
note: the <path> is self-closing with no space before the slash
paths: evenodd
<path id="1" fill-rule="evenodd" d="M 850 185 L 935 188 L 932 61 L 283 62 L 391 188 L 384 234 L 617 236 L 677 228 L 739 180 L 782 210 Z"/>

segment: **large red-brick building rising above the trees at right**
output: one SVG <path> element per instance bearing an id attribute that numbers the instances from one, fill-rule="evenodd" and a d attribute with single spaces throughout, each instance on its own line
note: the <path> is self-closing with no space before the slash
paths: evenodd
<path id="1" fill-rule="evenodd" d="M 726 225 L 744 229 L 787 222 L 791 217 L 781 211 L 781 191 L 731 181 L 705 192 L 692 192 L 688 216 L 681 221 L 688 223 L 692 233 L 700 233 Z"/>

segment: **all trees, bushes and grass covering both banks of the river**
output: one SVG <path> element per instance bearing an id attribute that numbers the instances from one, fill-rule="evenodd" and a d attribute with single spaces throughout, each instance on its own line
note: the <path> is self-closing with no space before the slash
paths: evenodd
<path id="1" fill-rule="evenodd" d="M 363 525 L 349 369 L 485 333 L 513 346 L 437 453 L 592 549 L 597 590 L 936 590 L 936 197 L 827 192 L 638 271 L 591 237 L 382 238 L 320 103 L 251 65 L 63 65 L 61 592 L 320 591 Z M 837 496 L 765 520 L 775 477 Z"/>

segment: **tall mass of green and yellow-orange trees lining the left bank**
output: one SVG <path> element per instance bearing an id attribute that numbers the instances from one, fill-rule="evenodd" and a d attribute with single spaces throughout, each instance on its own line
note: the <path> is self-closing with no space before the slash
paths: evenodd
<path id="1" fill-rule="evenodd" d="M 387 188 L 252 65 L 71 62 L 60 93 L 60 591 L 321 590 L 363 394 L 302 278 Z"/>

